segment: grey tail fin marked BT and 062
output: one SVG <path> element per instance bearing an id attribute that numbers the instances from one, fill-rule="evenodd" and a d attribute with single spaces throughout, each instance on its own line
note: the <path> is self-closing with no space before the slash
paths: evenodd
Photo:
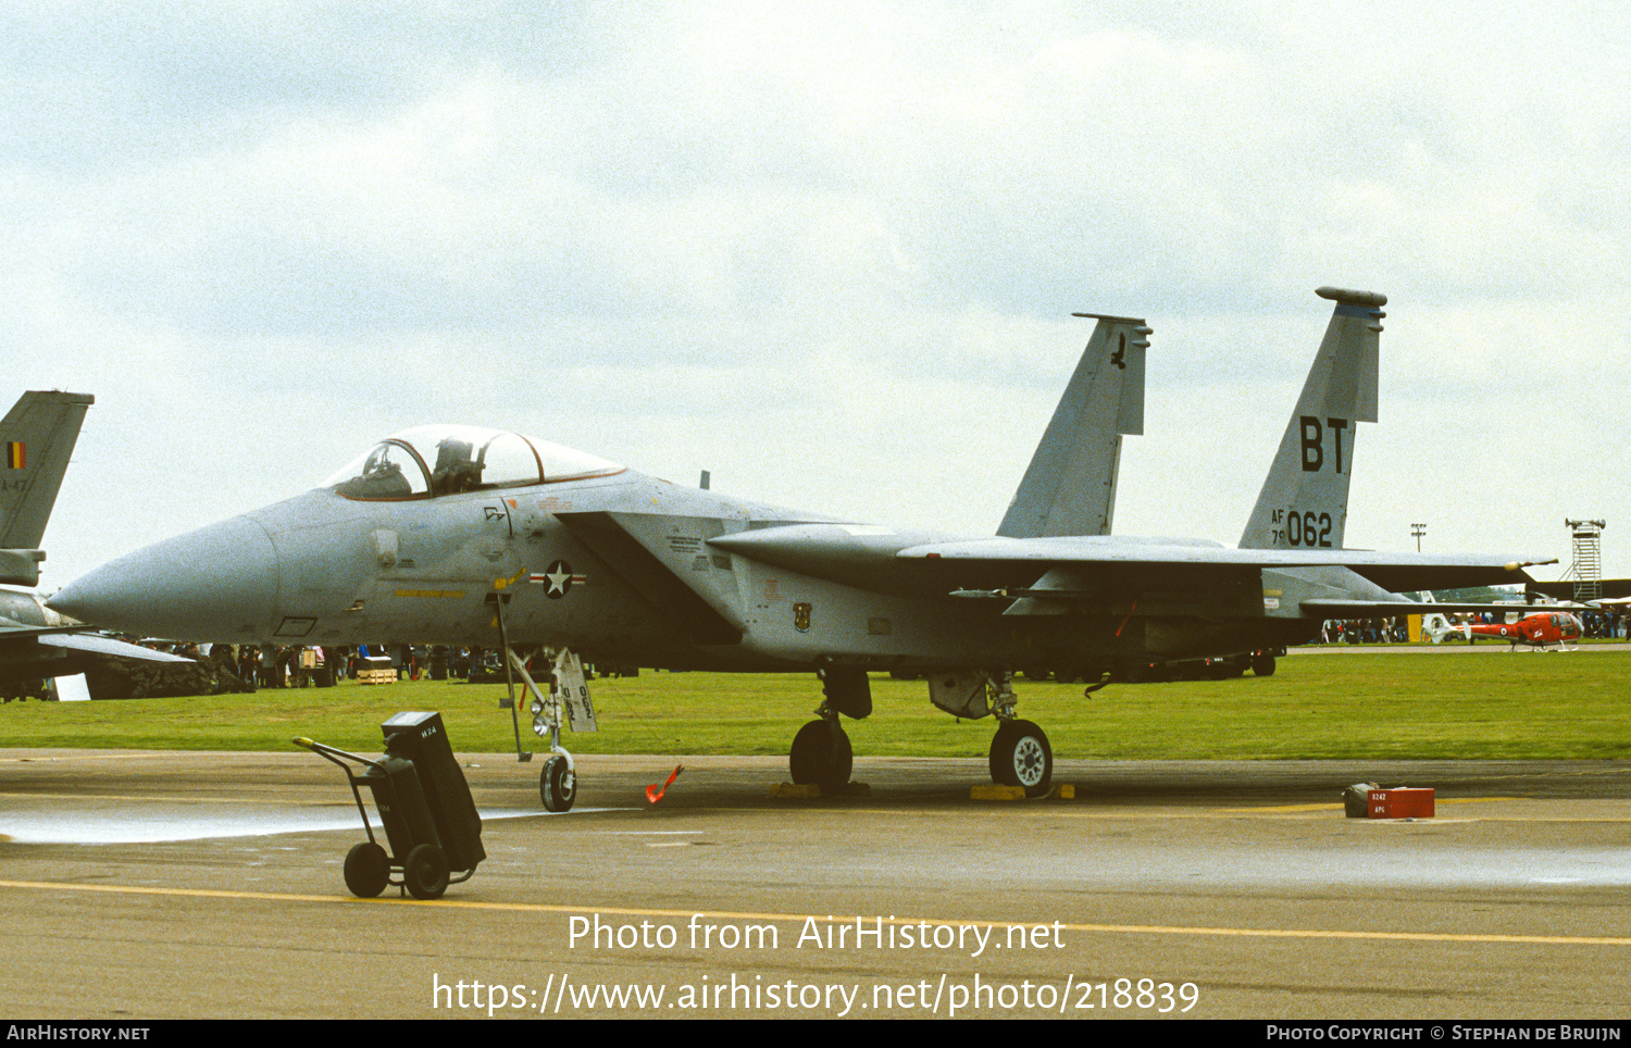
<path id="1" fill-rule="evenodd" d="M 1377 346 L 1388 297 L 1336 287 L 1315 293 L 1336 310 L 1241 549 L 1342 548 L 1357 424 L 1377 421 Z"/>

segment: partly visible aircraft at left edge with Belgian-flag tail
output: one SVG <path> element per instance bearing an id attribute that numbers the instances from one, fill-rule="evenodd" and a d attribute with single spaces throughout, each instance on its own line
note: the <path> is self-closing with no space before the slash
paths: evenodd
<path id="1" fill-rule="evenodd" d="M 0 421 L 0 583 L 39 583 L 41 539 L 93 403 L 88 393 L 31 391 Z M 0 696 L 26 694 L 47 676 L 85 673 L 104 657 L 191 662 L 88 631 L 33 593 L 0 588 Z"/>

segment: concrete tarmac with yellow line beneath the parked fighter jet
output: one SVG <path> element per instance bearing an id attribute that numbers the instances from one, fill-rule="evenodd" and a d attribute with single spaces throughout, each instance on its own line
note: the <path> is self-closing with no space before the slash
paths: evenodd
<path id="1" fill-rule="evenodd" d="M 310 753 L 0 756 L 13 1015 L 1616 1019 L 1631 761 L 1060 761 L 1075 800 L 977 802 L 983 761 L 465 756 L 488 861 L 357 900 L 344 777 Z M 1349 820 L 1350 782 L 1437 787 Z M 659 996 L 661 994 L 661 996 Z"/>

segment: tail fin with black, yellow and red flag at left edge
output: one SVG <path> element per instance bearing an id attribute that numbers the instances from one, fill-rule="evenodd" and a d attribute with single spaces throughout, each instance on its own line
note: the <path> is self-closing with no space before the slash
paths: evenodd
<path id="1" fill-rule="evenodd" d="M 24 393 L 0 422 L 0 582 L 39 585 L 39 543 L 80 438 L 88 393 Z"/>

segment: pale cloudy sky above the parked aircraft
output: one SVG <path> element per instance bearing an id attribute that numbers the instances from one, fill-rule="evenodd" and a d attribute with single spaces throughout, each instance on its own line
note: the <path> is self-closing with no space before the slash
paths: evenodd
<path id="1" fill-rule="evenodd" d="M 1631 574 L 1616 5 L 5 2 L 0 77 L 8 385 L 96 394 L 47 588 L 442 421 L 990 535 L 1072 311 L 1155 329 L 1116 530 L 1233 544 L 1323 284 L 1350 546 Z"/>

